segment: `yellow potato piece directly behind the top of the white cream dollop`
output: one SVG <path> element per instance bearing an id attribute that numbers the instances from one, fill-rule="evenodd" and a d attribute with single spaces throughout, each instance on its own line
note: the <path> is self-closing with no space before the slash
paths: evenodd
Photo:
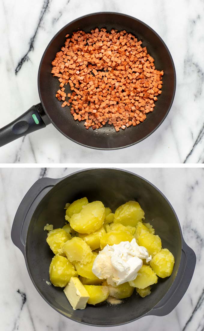
<path id="1" fill-rule="evenodd" d="M 126 231 L 110 231 L 106 233 L 101 238 L 101 249 L 103 249 L 107 244 L 112 246 L 114 244 L 119 244 L 121 241 L 129 241 L 133 240 L 134 237 L 132 234 Z"/>

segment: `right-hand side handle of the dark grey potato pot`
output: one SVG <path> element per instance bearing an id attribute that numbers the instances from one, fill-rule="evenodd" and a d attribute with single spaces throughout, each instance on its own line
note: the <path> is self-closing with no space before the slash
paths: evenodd
<path id="1" fill-rule="evenodd" d="M 180 267 L 174 283 L 164 298 L 146 315 L 164 316 L 178 305 L 190 284 L 195 263 L 194 251 L 183 241 Z"/>

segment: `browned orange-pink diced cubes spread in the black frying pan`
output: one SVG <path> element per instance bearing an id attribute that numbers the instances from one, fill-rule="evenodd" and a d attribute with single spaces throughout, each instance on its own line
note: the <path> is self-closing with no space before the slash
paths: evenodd
<path id="1" fill-rule="evenodd" d="M 153 112 L 164 72 L 156 70 L 141 40 L 125 30 L 109 33 L 105 28 L 65 37 L 51 73 L 60 82 L 56 98 L 63 101 L 61 107 L 71 105 L 74 120 L 85 120 L 87 130 L 108 123 L 119 131 Z M 67 83 L 71 93 L 66 94 Z"/>

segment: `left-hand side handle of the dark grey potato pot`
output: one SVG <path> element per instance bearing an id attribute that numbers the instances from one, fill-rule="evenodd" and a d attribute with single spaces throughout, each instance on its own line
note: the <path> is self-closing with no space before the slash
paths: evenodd
<path id="1" fill-rule="evenodd" d="M 34 212 L 36 204 L 41 201 L 45 194 L 49 192 L 58 181 L 59 179 L 47 177 L 37 180 L 28 190 L 19 205 L 11 229 L 11 239 L 23 255 L 25 254 L 26 235 L 30 217 Z M 34 202 L 35 204 L 33 205 Z"/>

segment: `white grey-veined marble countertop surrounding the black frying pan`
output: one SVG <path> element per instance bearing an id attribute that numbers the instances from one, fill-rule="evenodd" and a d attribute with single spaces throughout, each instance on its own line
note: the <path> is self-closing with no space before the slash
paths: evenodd
<path id="1" fill-rule="evenodd" d="M 204 3 L 197 0 L 1 0 L 1 120 L 39 102 L 37 73 L 51 38 L 73 19 L 98 11 L 135 16 L 167 44 L 177 72 L 172 109 L 143 142 L 116 151 L 85 148 L 49 125 L 0 149 L 0 163 L 203 163 Z"/>

